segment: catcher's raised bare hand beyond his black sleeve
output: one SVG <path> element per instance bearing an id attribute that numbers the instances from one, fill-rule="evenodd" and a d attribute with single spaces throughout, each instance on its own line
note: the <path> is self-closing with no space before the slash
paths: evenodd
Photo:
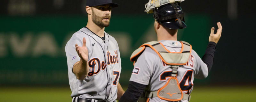
<path id="1" fill-rule="evenodd" d="M 217 33 L 214 34 L 214 27 L 212 27 L 211 34 L 209 37 L 209 42 L 212 41 L 212 42 L 215 42 L 216 44 L 220 40 L 220 36 L 221 36 L 221 32 L 222 32 L 222 26 L 221 26 L 220 22 L 218 22 L 217 25 L 218 25 Z"/>

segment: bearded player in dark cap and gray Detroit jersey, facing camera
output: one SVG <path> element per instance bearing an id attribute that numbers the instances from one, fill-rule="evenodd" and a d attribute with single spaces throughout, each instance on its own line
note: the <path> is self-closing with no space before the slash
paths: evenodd
<path id="1" fill-rule="evenodd" d="M 72 102 L 116 102 L 124 93 L 118 83 L 121 58 L 116 40 L 106 33 L 112 0 L 87 0 L 87 25 L 74 33 L 65 51 Z"/>

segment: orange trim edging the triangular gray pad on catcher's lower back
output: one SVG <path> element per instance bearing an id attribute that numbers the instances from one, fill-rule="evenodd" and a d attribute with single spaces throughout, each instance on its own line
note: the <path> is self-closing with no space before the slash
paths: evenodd
<path id="1" fill-rule="evenodd" d="M 179 98 L 179 99 L 168 99 L 168 98 L 163 98 L 163 97 L 159 96 L 159 92 L 160 92 L 161 90 L 163 90 L 163 89 L 169 84 L 169 82 L 170 82 L 171 79 L 175 79 L 175 80 L 177 81 L 177 85 L 178 85 L 178 87 L 179 87 L 179 89 L 180 89 L 180 84 L 178 83 L 178 79 L 177 79 L 176 77 L 171 77 L 171 78 L 167 81 L 167 83 L 166 83 L 162 88 L 160 88 L 160 89 L 157 91 L 157 96 L 158 96 L 158 98 L 164 99 L 164 100 L 167 100 L 167 101 L 180 101 L 180 100 L 183 98 L 183 92 L 182 92 L 181 89 L 180 89 L 181 98 Z"/>

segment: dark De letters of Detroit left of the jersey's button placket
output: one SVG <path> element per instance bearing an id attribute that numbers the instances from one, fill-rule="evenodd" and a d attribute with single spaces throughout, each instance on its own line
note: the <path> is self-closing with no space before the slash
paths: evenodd
<path id="1" fill-rule="evenodd" d="M 93 75 L 96 75 L 100 72 L 100 69 L 105 70 L 107 65 L 105 64 L 104 61 L 101 62 L 98 58 L 93 58 L 89 62 L 89 67 L 92 69 L 89 73 L 88 76 L 92 77 Z"/>

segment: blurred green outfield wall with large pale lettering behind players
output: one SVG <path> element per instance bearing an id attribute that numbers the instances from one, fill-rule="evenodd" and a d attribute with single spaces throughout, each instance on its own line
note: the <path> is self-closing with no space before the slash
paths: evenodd
<path id="1" fill-rule="evenodd" d="M 202 57 L 210 33 L 210 18 L 186 15 L 185 19 L 188 28 L 178 32 L 178 39 L 188 41 Z M 1 16 L 0 22 L 0 85 L 68 85 L 64 47 L 71 35 L 86 25 L 86 16 Z M 131 76 L 132 51 L 156 40 L 153 25 L 152 15 L 112 15 L 110 26 L 105 28 L 120 47 L 122 85 L 127 85 Z"/>

